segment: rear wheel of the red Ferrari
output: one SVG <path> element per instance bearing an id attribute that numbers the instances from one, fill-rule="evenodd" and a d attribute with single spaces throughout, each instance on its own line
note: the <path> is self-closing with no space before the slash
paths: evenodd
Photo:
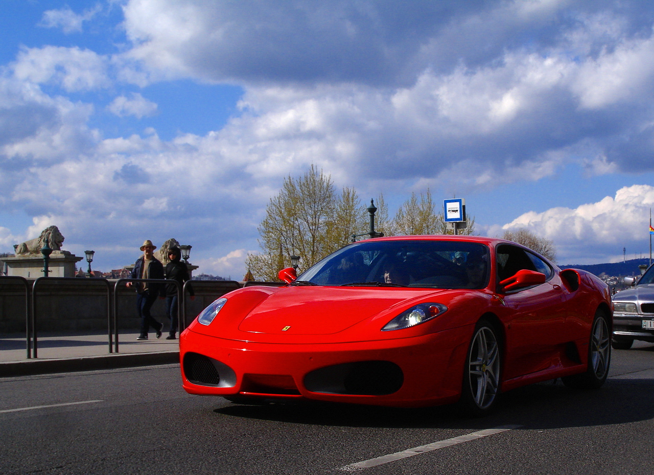
<path id="1" fill-rule="evenodd" d="M 595 313 L 588 344 L 588 368 L 581 374 L 561 378 L 564 385 L 575 389 L 598 389 L 604 384 L 611 364 L 611 332 L 604 311 Z"/>

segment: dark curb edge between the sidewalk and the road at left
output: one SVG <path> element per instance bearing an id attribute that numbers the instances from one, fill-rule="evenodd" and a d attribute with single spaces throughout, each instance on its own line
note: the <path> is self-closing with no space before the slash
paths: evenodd
<path id="1" fill-rule="evenodd" d="M 77 371 L 109 370 L 133 366 L 179 363 L 179 351 L 160 353 L 113 353 L 94 357 L 30 359 L 0 363 L 0 378 L 33 376 L 35 374 L 69 373 Z"/>

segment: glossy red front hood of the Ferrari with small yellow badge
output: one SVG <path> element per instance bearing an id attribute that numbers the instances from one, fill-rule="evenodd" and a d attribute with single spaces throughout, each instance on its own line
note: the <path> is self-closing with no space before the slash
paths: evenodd
<path id="1" fill-rule="evenodd" d="M 476 299 L 483 292 L 472 291 Z M 211 325 L 194 321 L 189 330 L 228 340 L 260 343 L 355 342 L 400 338 L 381 332 L 394 317 L 422 302 L 445 305 L 470 300 L 471 290 L 408 289 L 395 287 L 246 287 L 230 292 Z M 475 313 L 481 300 L 465 305 Z M 456 316 L 456 318 L 455 318 Z M 450 311 L 438 319 L 447 328 L 466 318 Z M 440 324 L 434 323 L 440 328 Z M 419 325 L 423 327 L 422 325 Z M 403 331 L 402 338 L 421 334 L 423 328 Z M 431 331 L 438 331 L 434 326 Z"/>

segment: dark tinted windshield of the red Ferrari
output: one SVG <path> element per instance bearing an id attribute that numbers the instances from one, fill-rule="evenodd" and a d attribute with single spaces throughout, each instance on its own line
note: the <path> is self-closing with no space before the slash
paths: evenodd
<path id="1" fill-rule="evenodd" d="M 489 249 L 465 241 L 407 240 L 354 243 L 298 277 L 315 285 L 483 289 Z"/>

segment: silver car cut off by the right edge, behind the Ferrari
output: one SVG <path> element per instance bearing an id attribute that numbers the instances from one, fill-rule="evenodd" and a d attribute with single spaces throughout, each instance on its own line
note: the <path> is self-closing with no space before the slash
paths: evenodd
<path id="1" fill-rule="evenodd" d="M 613 295 L 614 349 L 629 349 L 634 340 L 654 343 L 654 266 L 625 283 L 634 287 Z"/>

